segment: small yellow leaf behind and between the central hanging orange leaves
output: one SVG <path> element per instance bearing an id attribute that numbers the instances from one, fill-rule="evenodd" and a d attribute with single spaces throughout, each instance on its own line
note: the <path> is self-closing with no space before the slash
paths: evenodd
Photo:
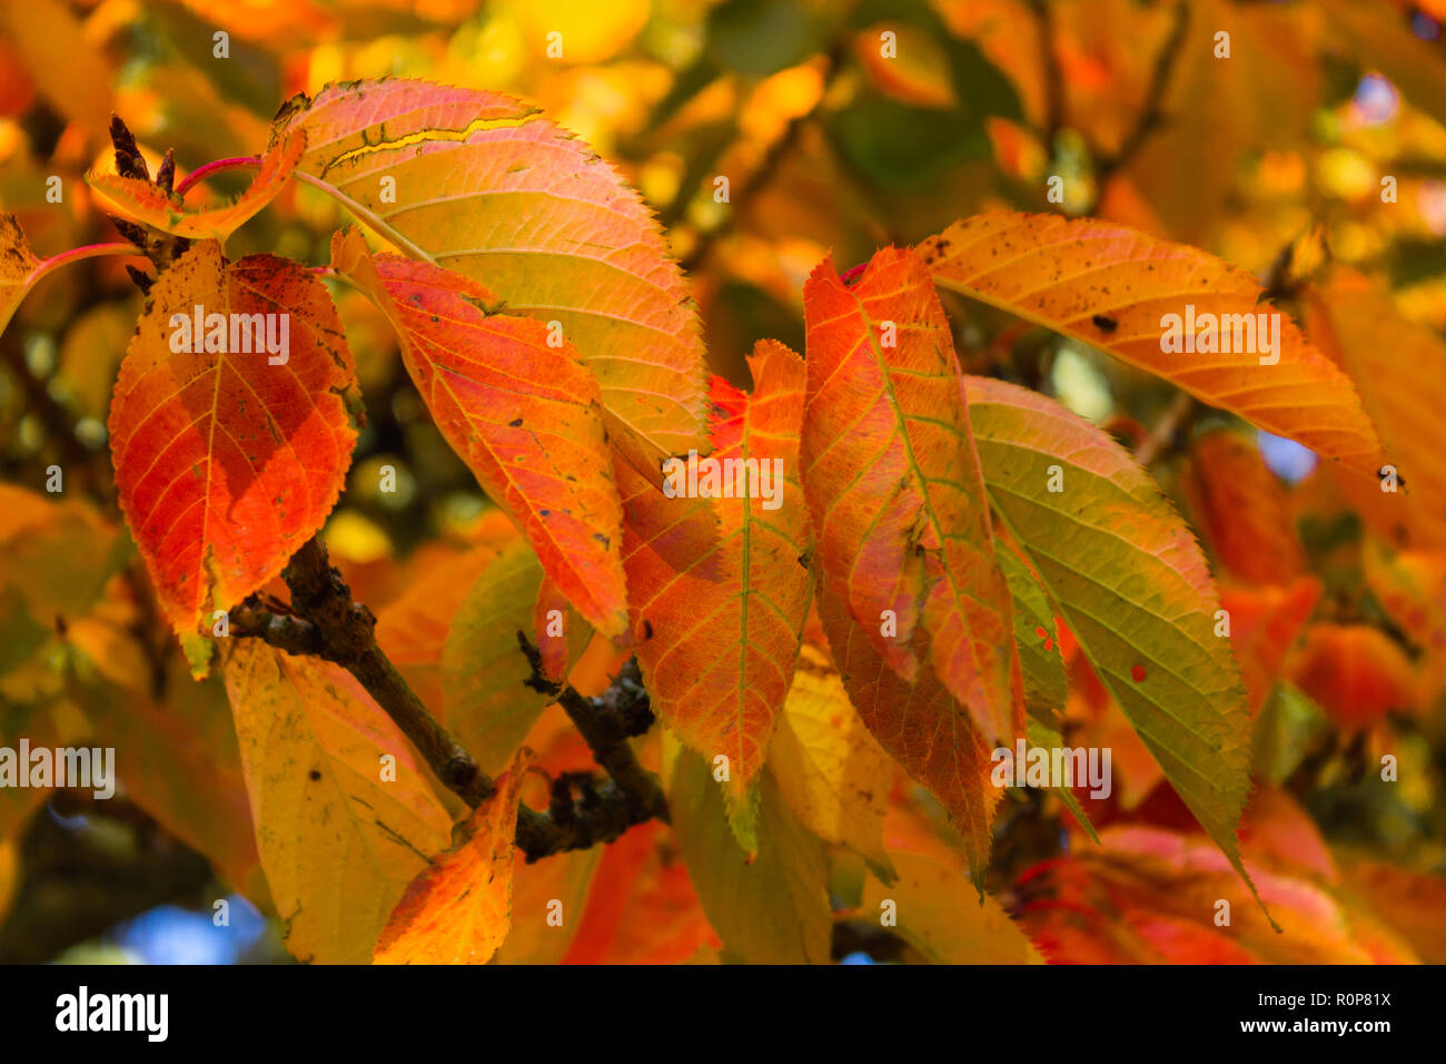
<path id="1" fill-rule="evenodd" d="M 884 851 L 894 760 L 863 727 L 837 670 L 817 647 L 804 644 L 800 651 L 769 764 L 804 827 L 894 877 Z"/>

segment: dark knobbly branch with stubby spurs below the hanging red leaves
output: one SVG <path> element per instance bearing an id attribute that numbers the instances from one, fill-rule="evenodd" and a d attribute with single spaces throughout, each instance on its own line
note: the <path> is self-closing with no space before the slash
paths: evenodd
<path id="1" fill-rule="evenodd" d="M 291 588 L 291 612 L 268 609 L 252 595 L 230 612 L 230 631 L 237 637 L 265 640 L 289 654 L 321 657 L 356 676 L 367 693 L 418 748 L 432 773 L 467 805 L 476 808 L 495 790 L 493 780 L 477 761 L 428 712 L 422 701 L 376 643 L 376 617 L 351 599 L 351 589 L 327 560 L 315 539 L 307 541 L 282 573 Z M 541 654 L 526 637 L 519 641 L 534 672 L 541 676 Z M 547 812 L 528 806 L 518 811 L 516 844 L 528 861 L 567 850 L 586 850 L 609 843 L 635 824 L 667 819 L 667 803 L 658 777 L 646 772 L 628 740 L 652 727 L 648 693 L 629 662 L 600 698 L 584 698 L 573 688 L 548 685 L 538 689 L 558 696 L 562 708 L 607 772 L 596 782 L 570 773 L 565 786 L 554 786 Z M 536 686 L 536 685 L 534 685 Z M 574 788 L 577 793 L 574 795 Z"/>

